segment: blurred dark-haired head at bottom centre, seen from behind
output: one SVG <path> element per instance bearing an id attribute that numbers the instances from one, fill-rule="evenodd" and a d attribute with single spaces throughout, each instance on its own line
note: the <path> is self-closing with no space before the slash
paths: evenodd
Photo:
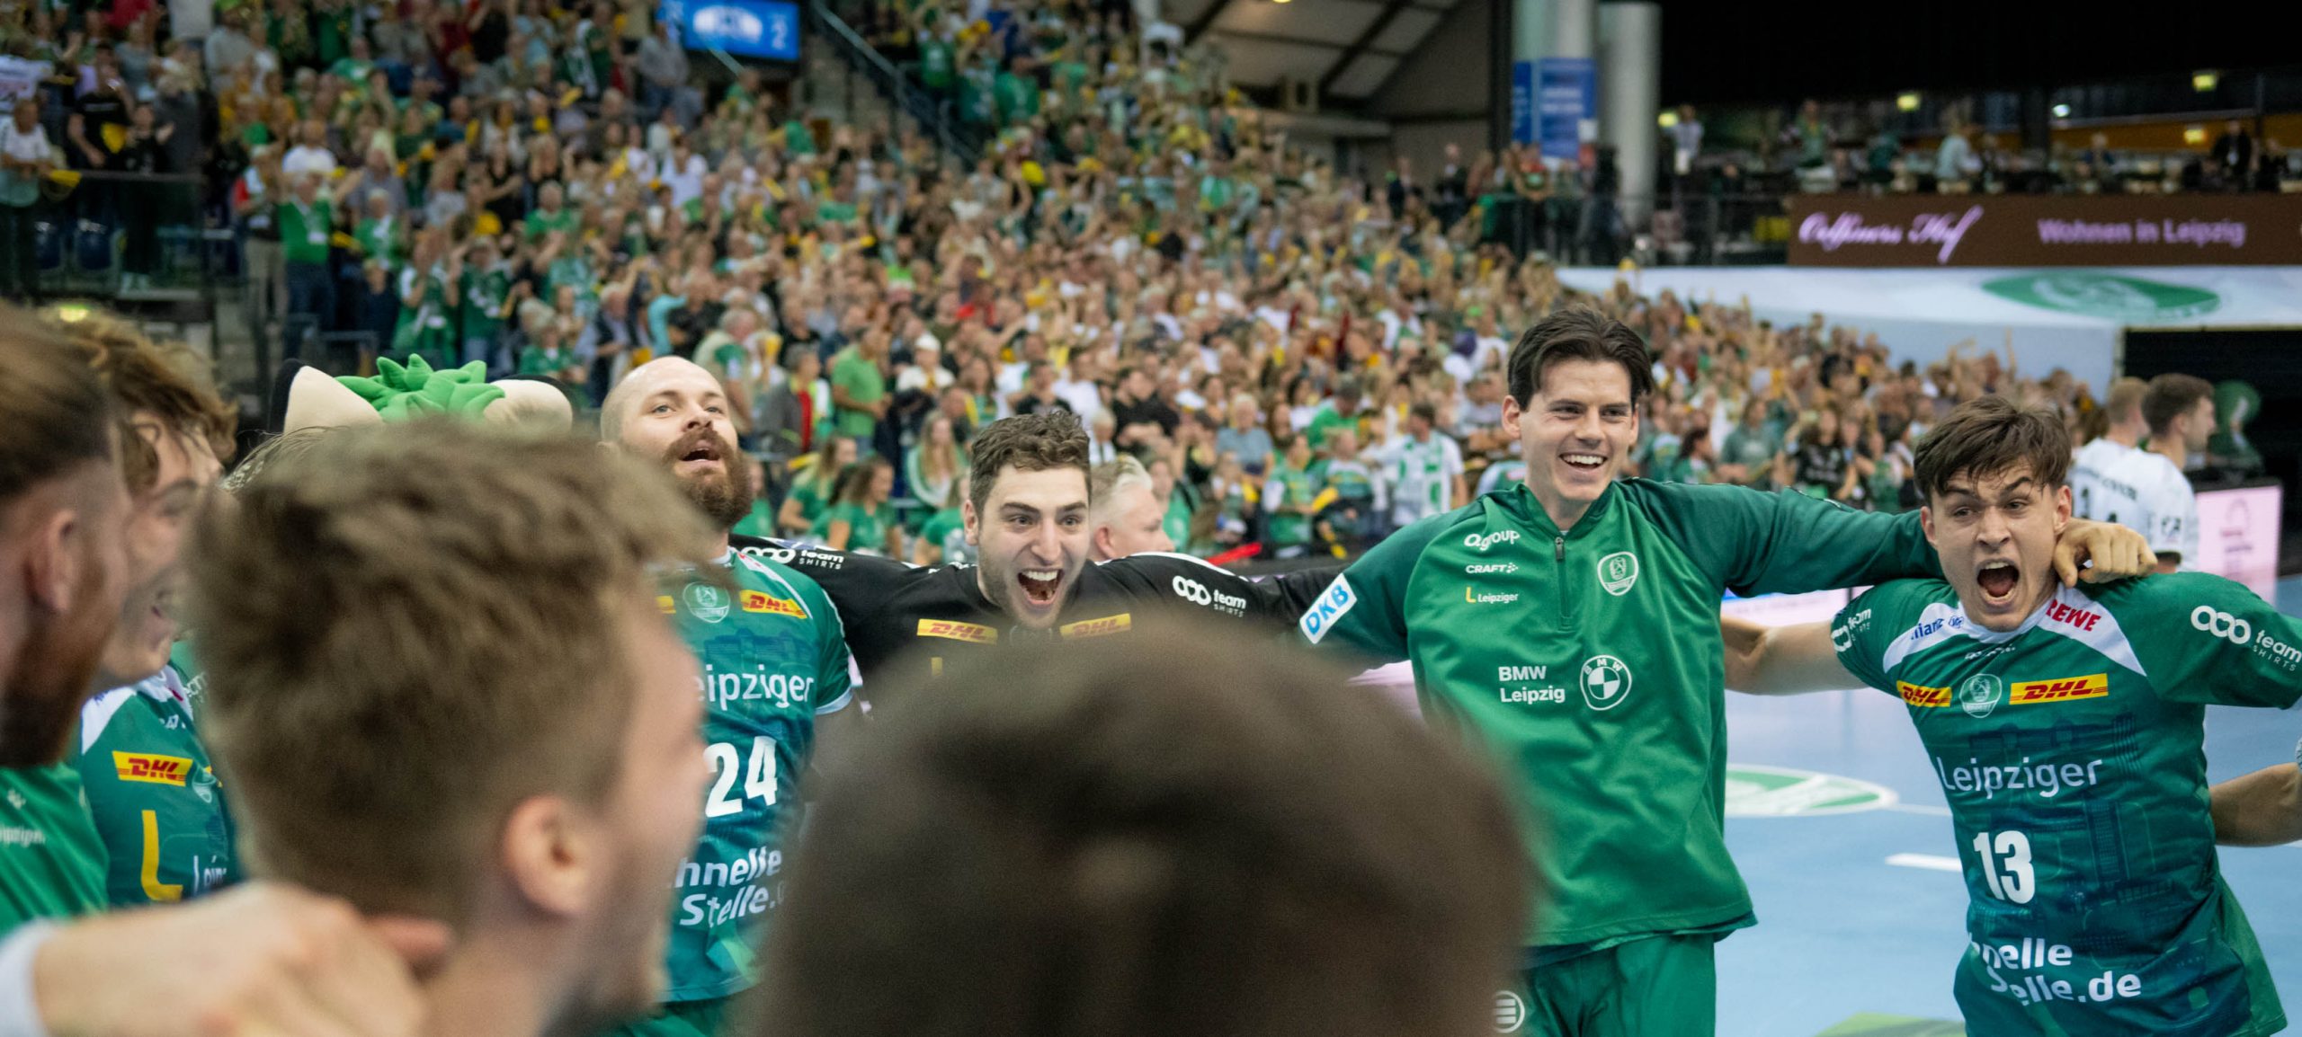
<path id="1" fill-rule="evenodd" d="M 778 1037 L 1492 1032 L 1508 807 L 1308 658 L 1045 642 L 826 775 L 755 1005 Z"/>

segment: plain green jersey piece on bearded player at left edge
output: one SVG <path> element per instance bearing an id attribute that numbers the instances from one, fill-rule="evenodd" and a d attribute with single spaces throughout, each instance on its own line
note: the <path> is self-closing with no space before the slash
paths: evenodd
<path id="1" fill-rule="evenodd" d="M 104 911 L 106 865 L 71 763 L 0 768 L 0 936 Z"/>

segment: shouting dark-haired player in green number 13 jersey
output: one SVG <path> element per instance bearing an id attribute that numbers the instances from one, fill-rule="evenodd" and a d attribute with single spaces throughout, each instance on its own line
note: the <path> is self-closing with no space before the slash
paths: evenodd
<path id="1" fill-rule="evenodd" d="M 1897 579 L 1835 623 L 1729 621 L 1729 683 L 1899 694 L 1934 756 L 1973 943 L 1954 991 L 1982 1035 L 2254 1037 L 2286 1028 L 2221 883 L 2205 704 L 2302 697 L 2302 623 L 2175 573 L 2058 586 L 2069 435 L 2003 398 L 1918 446 L 1945 579 Z"/>

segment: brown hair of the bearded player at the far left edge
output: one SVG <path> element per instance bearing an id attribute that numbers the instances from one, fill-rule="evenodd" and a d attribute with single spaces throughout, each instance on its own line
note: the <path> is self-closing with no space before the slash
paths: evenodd
<path id="1" fill-rule="evenodd" d="M 113 462 L 113 402 L 85 354 L 0 306 L 0 506 L 81 464 Z"/>

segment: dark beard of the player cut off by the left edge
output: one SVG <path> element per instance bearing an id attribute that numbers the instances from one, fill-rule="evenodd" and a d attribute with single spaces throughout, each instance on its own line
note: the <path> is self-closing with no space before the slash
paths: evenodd
<path id="1" fill-rule="evenodd" d="M 101 596 L 97 596 L 101 598 Z M 16 665 L 0 674 L 0 768 L 55 763 L 81 704 L 97 692 L 97 665 L 120 609 L 76 609 L 35 621 Z"/>

